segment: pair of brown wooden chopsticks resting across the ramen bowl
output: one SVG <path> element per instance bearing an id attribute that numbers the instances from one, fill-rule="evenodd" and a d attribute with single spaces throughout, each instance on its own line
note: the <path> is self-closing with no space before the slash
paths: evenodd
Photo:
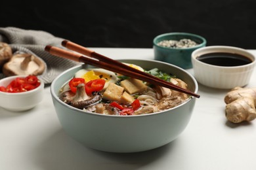
<path id="1" fill-rule="evenodd" d="M 165 88 L 170 88 L 170 89 L 176 90 L 178 92 L 187 93 L 194 97 L 198 97 L 198 98 L 200 97 L 200 95 L 198 95 L 194 92 L 191 92 L 189 90 L 186 90 L 184 88 L 176 86 L 175 84 L 172 84 L 170 82 L 161 80 L 160 78 L 157 78 L 156 76 L 152 76 L 152 75 L 149 75 L 142 71 L 139 71 L 137 69 L 134 69 L 133 67 L 129 67 L 128 65 L 125 65 L 125 64 L 123 64 L 119 61 L 116 61 L 114 59 L 110 59 L 110 58 L 107 58 L 106 56 L 102 56 L 101 54 L 98 54 L 98 53 L 94 52 L 93 50 L 89 50 L 83 46 L 79 46 L 78 44 L 75 44 L 74 42 L 63 41 L 62 45 L 66 46 L 66 48 L 69 48 L 70 50 L 74 50 L 75 52 L 85 54 L 86 56 L 89 56 L 91 58 L 96 58 L 98 60 L 87 58 L 85 56 L 82 56 L 81 54 L 70 52 L 70 51 L 64 50 L 62 48 L 57 48 L 55 46 L 45 46 L 45 50 L 47 52 L 49 52 L 50 54 L 53 54 L 54 56 L 59 56 L 62 58 L 68 58 L 68 59 L 72 59 L 74 61 L 87 63 L 89 65 L 94 65 L 95 67 L 107 69 L 109 71 L 113 71 L 113 72 L 119 73 L 121 75 L 126 75 L 126 76 L 130 76 L 132 78 L 137 78 L 137 79 L 143 80 L 145 82 L 150 82 L 151 84 L 155 84 L 157 86 L 163 86 Z M 120 67 L 120 65 L 121 65 L 121 67 Z"/>

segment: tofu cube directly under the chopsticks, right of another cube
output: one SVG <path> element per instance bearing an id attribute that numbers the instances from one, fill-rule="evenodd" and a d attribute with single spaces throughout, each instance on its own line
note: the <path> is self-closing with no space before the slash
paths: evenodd
<path id="1" fill-rule="evenodd" d="M 140 93 L 146 90 L 146 85 L 142 82 L 142 80 L 135 78 L 128 78 L 121 81 L 121 86 L 125 88 L 125 91 L 129 94 Z"/>

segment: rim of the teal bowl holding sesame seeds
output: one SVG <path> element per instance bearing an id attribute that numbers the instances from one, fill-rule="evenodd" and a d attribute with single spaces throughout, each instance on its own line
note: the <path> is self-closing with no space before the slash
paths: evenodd
<path id="1" fill-rule="evenodd" d="M 196 45 L 196 46 L 192 46 L 192 47 L 188 47 L 188 48 L 170 48 L 170 47 L 165 47 L 165 46 L 160 46 L 158 45 L 158 43 L 156 42 L 160 37 L 165 37 L 165 36 L 168 36 L 168 35 L 189 35 L 189 36 L 192 36 L 192 37 L 196 37 L 198 39 L 201 39 L 202 40 L 202 43 Z M 160 35 L 157 35 L 156 37 L 154 37 L 153 39 L 153 45 L 154 46 L 158 46 L 159 48 L 163 48 L 165 50 L 191 50 L 191 49 L 194 49 L 194 48 L 199 48 L 199 47 L 202 47 L 202 46 L 205 46 L 206 45 L 206 39 L 203 38 L 201 35 L 196 35 L 194 33 L 184 33 L 184 32 L 173 32 L 173 33 L 163 33 L 163 34 L 160 34 Z"/>

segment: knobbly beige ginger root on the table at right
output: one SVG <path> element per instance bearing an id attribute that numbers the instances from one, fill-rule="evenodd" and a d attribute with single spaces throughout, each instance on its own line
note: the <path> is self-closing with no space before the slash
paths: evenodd
<path id="1" fill-rule="evenodd" d="M 226 118 L 233 123 L 256 118 L 256 88 L 236 87 L 224 97 Z"/>

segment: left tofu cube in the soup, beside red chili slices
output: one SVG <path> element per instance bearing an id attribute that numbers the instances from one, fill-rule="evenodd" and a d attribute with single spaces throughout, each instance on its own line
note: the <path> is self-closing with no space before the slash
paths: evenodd
<path id="1" fill-rule="evenodd" d="M 103 99 L 110 100 L 110 101 L 119 101 L 124 88 L 121 86 L 117 86 L 114 83 L 110 83 L 106 88 L 106 91 L 103 93 Z"/>

